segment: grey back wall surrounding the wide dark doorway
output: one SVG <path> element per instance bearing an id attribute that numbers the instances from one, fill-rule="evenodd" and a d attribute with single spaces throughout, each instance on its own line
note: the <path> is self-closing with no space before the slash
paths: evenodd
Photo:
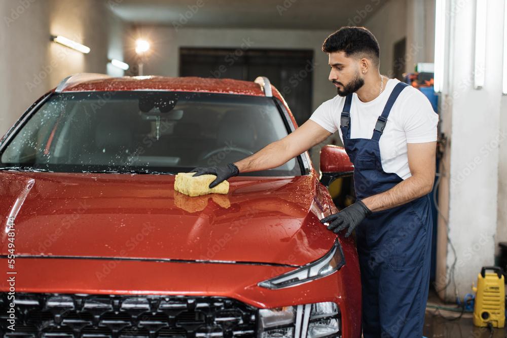
<path id="1" fill-rule="evenodd" d="M 178 76 L 180 47 L 312 49 L 315 63 L 313 109 L 336 95 L 336 89 L 328 80 L 328 57 L 320 50 L 322 42 L 333 30 L 209 28 L 178 28 L 176 30 L 172 26 L 143 26 L 132 29 L 130 35 L 135 36 L 138 30 L 152 42 L 154 50 L 154 54 L 150 55 L 144 64 L 144 75 Z M 250 47 L 245 41 L 249 42 Z M 132 55 L 129 55 L 129 60 L 134 62 Z"/>

